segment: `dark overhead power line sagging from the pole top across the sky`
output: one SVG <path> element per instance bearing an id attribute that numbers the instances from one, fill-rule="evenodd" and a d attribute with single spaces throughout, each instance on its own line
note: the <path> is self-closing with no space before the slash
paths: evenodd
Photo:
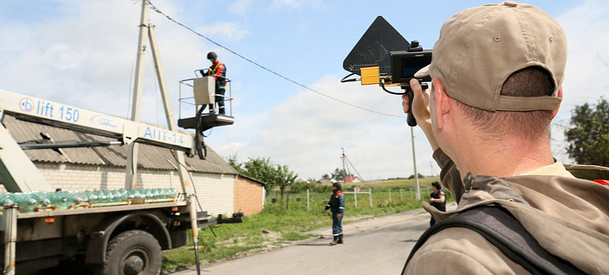
<path id="1" fill-rule="evenodd" d="M 200 34 L 200 33 L 196 32 L 196 31 L 195 31 L 195 30 L 193 30 L 192 28 L 189 28 L 187 25 L 184 25 L 183 23 L 180 23 L 180 22 L 178 22 L 178 21 L 176 21 L 176 20 L 172 19 L 171 17 L 169 17 L 169 15 L 165 14 L 164 12 L 162 12 L 161 10 L 159 10 L 158 8 L 156 8 L 156 6 L 155 6 L 155 5 L 153 5 L 151 1 L 149 1 L 149 0 L 146 0 L 146 1 L 148 1 L 148 3 L 150 4 L 150 7 L 152 8 L 152 10 L 154 10 L 155 12 L 158 12 L 159 14 L 163 15 L 163 17 L 166 17 L 167 19 L 169 19 L 169 21 L 172 21 L 172 22 L 174 22 L 174 23 L 176 23 L 176 24 L 180 25 L 181 27 L 183 27 L 183 28 L 185 28 L 185 29 L 187 29 L 187 30 L 191 31 L 192 33 L 194 33 L 194 34 L 196 34 L 196 35 L 198 35 L 198 36 L 202 37 L 203 39 L 205 39 L 205 40 L 207 40 L 207 41 L 209 41 L 209 42 L 213 43 L 214 45 L 217 45 L 218 47 L 222 47 L 224 50 L 227 50 L 227 51 L 228 51 L 228 52 L 230 52 L 231 54 L 234 54 L 234 55 L 236 55 L 236 56 L 238 56 L 238 57 L 242 58 L 243 60 L 245 60 L 245 61 L 247 61 L 247 62 L 249 62 L 249 63 L 251 63 L 251 64 L 256 65 L 257 67 L 260 67 L 260 69 L 264 69 L 265 71 L 267 71 L 267 72 L 269 72 L 269 73 L 271 73 L 271 74 L 274 74 L 274 75 L 276 75 L 276 76 L 279 76 L 280 78 L 283 78 L 283 79 L 285 79 L 285 80 L 287 80 L 287 81 L 289 81 L 289 82 L 291 82 L 291 83 L 293 83 L 293 84 L 296 84 L 296 85 L 298 85 L 298 86 L 300 86 L 300 87 L 302 87 L 302 88 L 305 88 L 305 89 L 307 89 L 308 91 L 312 91 L 313 93 L 319 94 L 320 96 L 325 96 L 325 97 L 327 97 L 327 98 L 330 98 L 331 100 L 336 100 L 336 101 L 338 101 L 338 102 L 340 102 L 340 103 L 342 103 L 342 104 L 347 104 L 347 105 L 349 105 L 349 106 L 351 106 L 351 107 L 355 107 L 355 108 L 358 108 L 358 109 L 362 109 L 362 110 L 364 110 L 364 111 L 369 111 L 369 112 L 371 112 L 371 113 L 376 113 L 376 114 L 379 114 L 379 115 L 386 115 L 386 116 L 393 117 L 393 118 L 404 118 L 403 116 L 400 116 L 400 115 L 391 115 L 391 114 L 389 114 L 389 113 L 382 113 L 382 112 L 380 112 L 380 111 L 374 111 L 374 110 L 371 110 L 371 109 L 367 109 L 367 108 L 364 108 L 364 107 L 360 107 L 360 106 L 358 106 L 358 105 L 355 105 L 355 104 L 352 104 L 352 103 L 346 102 L 346 101 L 344 101 L 344 100 L 340 100 L 340 99 L 338 99 L 338 98 L 334 98 L 333 96 L 329 96 L 329 95 L 327 95 L 327 94 L 324 94 L 324 93 L 322 93 L 322 92 L 320 92 L 320 91 L 317 91 L 316 89 L 311 89 L 311 88 L 307 87 L 306 85 L 303 85 L 303 84 L 299 83 L 299 82 L 298 82 L 298 81 L 296 81 L 296 80 L 293 80 L 293 79 L 291 79 L 291 78 L 288 78 L 287 76 L 283 76 L 282 74 L 279 74 L 278 72 L 275 72 L 275 71 L 273 71 L 273 70 L 271 70 L 271 69 L 268 69 L 267 67 L 262 66 L 262 65 L 260 65 L 260 64 L 258 64 L 258 63 L 256 63 L 256 61 L 252 61 L 251 59 L 249 59 L 249 58 L 247 58 L 247 57 L 245 57 L 245 56 L 242 56 L 242 55 L 240 55 L 240 54 L 238 54 L 238 53 L 234 52 L 233 50 L 230 50 L 229 48 L 225 47 L 224 45 L 221 45 L 220 43 L 218 43 L 218 42 L 216 42 L 216 41 L 213 41 L 213 40 L 209 39 L 209 37 L 207 37 L 207 36 L 205 36 L 205 35 L 203 35 L 203 34 Z"/>

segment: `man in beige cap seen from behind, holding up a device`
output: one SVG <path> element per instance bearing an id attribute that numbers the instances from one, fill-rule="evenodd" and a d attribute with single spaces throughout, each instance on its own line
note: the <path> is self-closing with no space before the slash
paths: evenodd
<path id="1" fill-rule="evenodd" d="M 566 54 L 564 30 L 533 5 L 482 5 L 444 23 L 415 75 L 429 74 L 431 89 L 410 84 L 458 207 L 423 203 L 438 223 L 403 274 L 609 274 L 609 188 L 593 181 L 609 168 L 561 164 L 550 151 Z"/>

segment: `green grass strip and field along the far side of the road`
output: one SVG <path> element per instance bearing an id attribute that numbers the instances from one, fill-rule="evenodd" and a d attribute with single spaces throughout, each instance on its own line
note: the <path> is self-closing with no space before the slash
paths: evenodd
<path id="1" fill-rule="evenodd" d="M 422 199 L 429 197 L 426 186 L 437 181 L 437 177 L 420 179 Z M 350 185 L 350 184 L 349 184 Z M 379 217 L 395 214 L 421 207 L 421 203 L 411 199 L 410 190 L 414 190 L 414 180 L 388 180 L 358 183 L 361 188 L 372 188 L 372 207 L 369 206 L 369 195 L 358 194 L 358 207 L 355 207 L 353 194 L 345 194 L 344 223 L 351 223 L 369 217 Z M 343 188 L 347 189 L 347 188 Z M 402 199 L 400 199 L 402 189 Z M 391 190 L 391 200 L 389 191 Z M 431 187 L 429 188 L 431 191 Z M 277 192 L 279 196 L 279 192 Z M 331 225 L 329 212 L 322 210 L 329 200 L 330 192 L 309 192 L 309 208 L 307 211 L 307 192 L 290 193 L 283 199 L 275 197 L 271 191 L 267 195 L 265 209 L 243 219 L 243 223 L 225 224 L 214 227 L 214 232 L 205 228 L 200 232 L 198 242 L 200 259 L 203 263 L 213 263 L 232 259 L 244 254 L 280 248 L 292 241 L 308 239 L 311 235 L 304 232 Z M 452 196 L 447 192 L 447 201 Z M 414 195 L 413 195 L 414 197 Z M 271 203 L 273 198 L 280 202 Z M 297 198 L 300 198 L 298 201 Z M 192 241 L 182 248 L 163 252 L 163 270 L 169 272 L 194 265 L 194 248 Z"/>

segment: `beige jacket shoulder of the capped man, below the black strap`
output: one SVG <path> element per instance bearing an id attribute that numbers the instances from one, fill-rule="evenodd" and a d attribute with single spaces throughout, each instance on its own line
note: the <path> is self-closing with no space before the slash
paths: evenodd
<path id="1" fill-rule="evenodd" d="M 447 228 L 427 239 L 404 274 L 530 274 L 484 236 L 466 228 Z"/>

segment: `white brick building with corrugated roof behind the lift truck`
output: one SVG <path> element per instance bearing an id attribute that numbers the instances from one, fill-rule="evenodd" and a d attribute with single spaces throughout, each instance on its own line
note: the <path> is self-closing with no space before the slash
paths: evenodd
<path id="1" fill-rule="evenodd" d="M 2 123 L 19 143 L 41 140 L 43 137 L 54 142 L 114 140 L 101 135 L 28 122 L 10 115 L 4 115 Z M 74 191 L 124 188 L 127 152 L 127 146 L 25 151 L 53 188 Z M 180 192 L 177 165 L 169 149 L 139 144 L 138 188 L 174 187 Z M 240 209 L 252 214 L 262 210 L 264 183 L 238 175 L 209 146 L 207 159 L 186 157 L 185 165 L 192 177 L 192 184 L 187 186 L 188 192 L 196 192 L 201 206 L 209 214 L 232 214 L 240 212 Z"/>

